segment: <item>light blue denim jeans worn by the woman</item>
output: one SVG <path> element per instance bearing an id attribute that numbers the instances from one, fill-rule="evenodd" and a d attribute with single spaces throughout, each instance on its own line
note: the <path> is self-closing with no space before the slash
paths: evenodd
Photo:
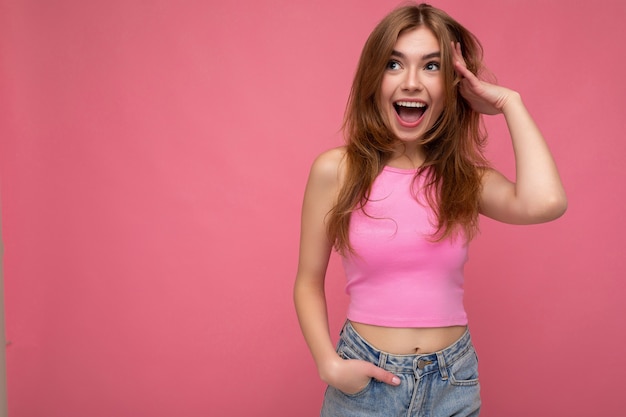
<path id="1" fill-rule="evenodd" d="M 386 369 L 401 383 L 372 379 L 352 395 L 329 386 L 321 417 L 475 417 L 480 412 L 478 358 L 469 331 L 439 352 L 392 355 L 371 346 L 347 322 L 337 352 Z"/>

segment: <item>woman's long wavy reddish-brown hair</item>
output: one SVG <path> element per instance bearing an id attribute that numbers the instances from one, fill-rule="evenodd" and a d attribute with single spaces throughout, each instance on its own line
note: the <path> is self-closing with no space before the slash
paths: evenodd
<path id="1" fill-rule="evenodd" d="M 468 241 L 478 231 L 481 177 L 488 163 L 483 155 L 486 135 L 480 114 L 460 95 L 452 62 L 452 42 L 460 42 L 470 71 L 482 70 L 478 39 L 448 14 L 427 4 L 400 7 L 372 31 L 359 59 L 344 118 L 347 141 L 345 181 L 327 219 L 328 236 L 340 253 L 352 252 L 350 215 L 367 202 L 372 183 L 389 161 L 398 139 L 379 106 L 380 86 L 398 36 L 426 27 L 439 41 L 444 84 L 444 109 L 425 134 L 426 153 L 417 175 L 425 175 L 427 203 L 437 214 L 440 241 L 462 234 Z"/>

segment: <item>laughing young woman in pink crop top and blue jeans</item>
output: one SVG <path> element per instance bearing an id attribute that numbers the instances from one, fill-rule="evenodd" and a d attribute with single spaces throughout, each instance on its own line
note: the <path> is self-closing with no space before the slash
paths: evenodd
<path id="1" fill-rule="evenodd" d="M 409 5 L 368 38 L 345 116 L 346 146 L 307 183 L 294 289 L 328 385 L 322 416 L 475 416 L 477 359 L 463 266 L 478 215 L 547 222 L 567 201 L 520 95 L 487 83 L 478 40 L 445 12 Z M 480 114 L 503 114 L 516 181 L 485 160 Z M 324 277 L 341 255 L 350 305 L 335 348 Z"/>

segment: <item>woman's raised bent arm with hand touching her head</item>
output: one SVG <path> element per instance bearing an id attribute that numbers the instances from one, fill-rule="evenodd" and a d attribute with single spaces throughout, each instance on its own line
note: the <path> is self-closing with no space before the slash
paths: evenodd
<path id="1" fill-rule="evenodd" d="M 463 77 L 460 92 L 474 110 L 502 113 L 515 153 L 516 181 L 489 169 L 483 176 L 481 213 L 512 224 L 554 220 L 567 209 L 567 197 L 550 149 L 528 113 L 521 96 L 507 88 L 479 80 L 454 48 L 455 69 Z"/>

